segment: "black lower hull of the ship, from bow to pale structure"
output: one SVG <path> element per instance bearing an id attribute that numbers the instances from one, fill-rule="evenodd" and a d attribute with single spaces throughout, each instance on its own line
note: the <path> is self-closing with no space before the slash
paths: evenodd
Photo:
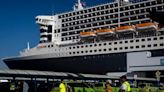
<path id="1" fill-rule="evenodd" d="M 4 62 L 10 69 L 23 70 L 41 70 L 90 74 L 106 74 L 107 72 L 127 71 L 126 53 L 51 59 L 5 59 Z"/>

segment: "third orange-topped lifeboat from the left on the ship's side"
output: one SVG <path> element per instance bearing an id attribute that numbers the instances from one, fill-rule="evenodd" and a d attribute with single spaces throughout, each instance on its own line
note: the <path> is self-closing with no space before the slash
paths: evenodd
<path id="1" fill-rule="evenodd" d="M 132 33 L 134 31 L 135 29 L 133 26 L 122 26 L 122 27 L 116 28 L 117 33 Z"/>

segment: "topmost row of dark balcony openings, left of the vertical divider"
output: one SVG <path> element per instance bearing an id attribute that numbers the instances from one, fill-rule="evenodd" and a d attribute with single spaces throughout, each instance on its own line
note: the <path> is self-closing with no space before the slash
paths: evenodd
<path id="1" fill-rule="evenodd" d="M 59 18 L 71 17 L 71 16 L 75 16 L 75 15 L 79 15 L 79 14 L 86 14 L 86 13 L 99 11 L 99 10 L 103 10 L 103 9 L 110 9 L 110 8 L 117 7 L 117 6 L 118 6 L 117 3 L 109 4 L 109 5 L 105 5 L 105 6 L 98 6 L 98 7 L 94 7 L 94 8 L 90 8 L 90 9 L 85 9 L 85 10 L 81 10 L 81 11 L 76 11 L 76 12 L 59 15 Z"/>

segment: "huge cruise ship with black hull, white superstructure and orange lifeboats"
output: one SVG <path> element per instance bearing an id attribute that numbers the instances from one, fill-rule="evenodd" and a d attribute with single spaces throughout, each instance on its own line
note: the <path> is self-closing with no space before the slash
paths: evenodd
<path id="1" fill-rule="evenodd" d="M 164 0 L 116 0 L 36 16 L 37 46 L 5 58 L 10 69 L 107 74 L 164 71 L 164 28 L 150 18 Z"/>

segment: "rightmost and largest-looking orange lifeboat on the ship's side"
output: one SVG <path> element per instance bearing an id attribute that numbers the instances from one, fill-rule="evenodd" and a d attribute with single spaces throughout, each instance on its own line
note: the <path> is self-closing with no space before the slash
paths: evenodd
<path id="1" fill-rule="evenodd" d="M 137 24 L 136 25 L 136 29 L 137 31 L 140 30 L 157 30 L 157 25 L 155 23 L 152 22 L 147 22 L 147 23 L 142 23 L 142 24 Z"/>

